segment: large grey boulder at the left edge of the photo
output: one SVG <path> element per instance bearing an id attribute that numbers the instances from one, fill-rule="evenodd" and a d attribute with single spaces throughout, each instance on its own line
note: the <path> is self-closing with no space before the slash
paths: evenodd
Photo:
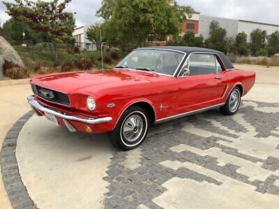
<path id="1" fill-rule="evenodd" d="M 13 63 L 15 66 L 24 68 L 24 63 L 15 49 L 0 36 L 0 80 L 3 79 L 3 65 L 5 62 Z"/>

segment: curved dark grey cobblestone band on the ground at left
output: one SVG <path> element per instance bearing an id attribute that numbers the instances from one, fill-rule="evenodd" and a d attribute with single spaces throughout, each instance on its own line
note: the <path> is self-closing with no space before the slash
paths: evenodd
<path id="1" fill-rule="evenodd" d="M 26 187 L 22 183 L 20 171 L 17 167 L 17 159 L 15 157 L 18 135 L 31 116 L 33 116 L 33 111 L 29 111 L 13 125 L 3 141 L 1 149 L 0 160 L 3 183 L 6 187 L 10 203 L 15 209 L 36 208 Z"/>

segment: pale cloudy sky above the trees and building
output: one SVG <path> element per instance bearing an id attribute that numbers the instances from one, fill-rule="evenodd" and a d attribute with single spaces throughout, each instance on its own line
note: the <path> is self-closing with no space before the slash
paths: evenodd
<path id="1" fill-rule="evenodd" d="M 13 1 L 13 0 L 6 0 Z M 278 0 L 176 0 L 181 5 L 190 5 L 201 15 L 227 17 L 238 20 L 250 20 L 279 24 Z M 76 12 L 76 25 L 91 24 L 100 20 L 96 10 L 100 8 L 101 0 L 72 0 L 67 10 Z M 0 1 L 0 22 L 6 22 L 8 15 L 6 6 Z"/>

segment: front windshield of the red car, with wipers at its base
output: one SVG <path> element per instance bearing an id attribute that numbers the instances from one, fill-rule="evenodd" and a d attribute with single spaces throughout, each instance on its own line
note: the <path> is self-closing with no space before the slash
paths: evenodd
<path id="1" fill-rule="evenodd" d="M 133 70 L 152 70 L 163 75 L 174 75 L 183 59 L 181 52 L 160 49 L 140 49 L 131 52 L 116 66 Z"/>

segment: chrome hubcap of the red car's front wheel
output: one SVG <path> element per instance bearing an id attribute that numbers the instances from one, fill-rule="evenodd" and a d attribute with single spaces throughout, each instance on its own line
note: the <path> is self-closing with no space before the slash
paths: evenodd
<path id="1" fill-rule="evenodd" d="M 133 142 L 139 139 L 143 130 L 143 121 L 140 116 L 130 116 L 124 123 L 122 128 L 123 138 L 126 141 Z"/>

